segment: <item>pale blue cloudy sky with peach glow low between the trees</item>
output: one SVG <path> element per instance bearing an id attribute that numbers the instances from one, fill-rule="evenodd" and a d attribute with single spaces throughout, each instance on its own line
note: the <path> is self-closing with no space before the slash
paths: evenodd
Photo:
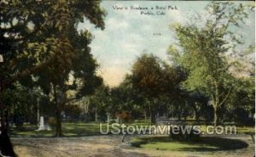
<path id="1" fill-rule="evenodd" d="M 108 13 L 105 18 L 105 29 L 96 29 L 95 25 L 85 20 L 79 24 L 79 30 L 87 29 L 95 36 L 90 48 L 100 64 L 98 73 L 103 77 L 105 84 L 116 87 L 124 80 L 125 74 L 129 73 L 132 64 L 142 53 L 153 53 L 160 59 L 168 60 L 167 48 L 177 43 L 170 25 L 185 24 L 195 14 L 203 18 L 195 19 L 195 23 L 206 21 L 209 18 L 204 9 L 207 3 L 209 2 L 103 1 L 101 7 Z M 147 7 L 154 15 L 142 14 L 142 10 L 131 9 L 131 6 Z M 246 20 L 243 30 L 238 30 L 242 36 L 247 36 L 247 41 L 251 43 L 254 43 L 255 38 L 254 16 L 252 14 Z"/>

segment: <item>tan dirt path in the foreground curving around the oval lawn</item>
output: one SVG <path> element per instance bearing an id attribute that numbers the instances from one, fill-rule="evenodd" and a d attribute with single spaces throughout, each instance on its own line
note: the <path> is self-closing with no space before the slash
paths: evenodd
<path id="1" fill-rule="evenodd" d="M 20 157 L 252 157 L 252 138 L 236 137 L 246 141 L 246 149 L 217 152 L 160 151 L 132 148 L 121 143 L 121 136 L 62 137 L 62 138 L 12 138 L 15 152 Z M 126 137 L 126 141 L 130 137 Z"/>

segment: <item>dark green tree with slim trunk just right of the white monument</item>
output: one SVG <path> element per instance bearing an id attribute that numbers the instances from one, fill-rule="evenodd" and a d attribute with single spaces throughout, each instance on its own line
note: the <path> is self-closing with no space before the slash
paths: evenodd
<path id="1" fill-rule="evenodd" d="M 72 33 L 73 31 L 73 33 Z M 92 40 L 88 31 L 69 31 L 70 42 L 77 48 L 76 55 L 68 66 L 60 66 L 56 62 L 44 70 L 35 73 L 38 85 L 44 93 L 51 93 L 55 104 L 56 130 L 55 136 L 61 137 L 61 111 L 64 105 L 94 92 L 102 84 L 102 78 L 96 76 L 98 64 L 90 53 L 89 44 Z M 73 91 L 72 98 L 67 98 L 67 93 Z"/>

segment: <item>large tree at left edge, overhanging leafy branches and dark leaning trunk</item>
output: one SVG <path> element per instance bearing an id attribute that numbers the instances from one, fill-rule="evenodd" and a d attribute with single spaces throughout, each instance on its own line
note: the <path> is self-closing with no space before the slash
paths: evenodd
<path id="1" fill-rule="evenodd" d="M 77 48 L 68 38 L 84 18 L 104 28 L 105 12 L 100 1 L 1 1 L 0 49 L 1 93 L 20 78 L 32 80 L 32 74 L 49 64 L 64 68 L 72 64 Z M 73 31 L 71 31 L 73 32 Z M 15 156 L 4 122 L 1 103 L 0 150 Z"/>

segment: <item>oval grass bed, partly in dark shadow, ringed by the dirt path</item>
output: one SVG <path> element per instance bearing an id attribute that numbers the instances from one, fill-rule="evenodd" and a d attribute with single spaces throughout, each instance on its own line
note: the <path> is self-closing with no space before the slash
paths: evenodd
<path id="1" fill-rule="evenodd" d="M 136 137 L 131 145 L 144 149 L 177 150 L 177 151 L 219 151 L 243 149 L 247 143 L 223 137 L 200 137 L 197 141 L 175 141 L 170 137 Z"/>

